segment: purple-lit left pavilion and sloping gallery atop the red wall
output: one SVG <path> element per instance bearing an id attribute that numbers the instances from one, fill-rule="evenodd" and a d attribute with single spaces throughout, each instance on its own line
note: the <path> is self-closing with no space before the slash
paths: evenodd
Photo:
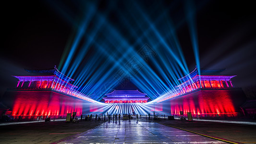
<path id="1" fill-rule="evenodd" d="M 29 76 L 13 76 L 19 79 L 17 89 L 47 90 L 51 89 L 66 95 L 93 102 L 82 93 L 76 91 L 77 86 L 70 84 L 74 80 L 62 74 L 57 68 L 52 70 L 26 70 Z"/>

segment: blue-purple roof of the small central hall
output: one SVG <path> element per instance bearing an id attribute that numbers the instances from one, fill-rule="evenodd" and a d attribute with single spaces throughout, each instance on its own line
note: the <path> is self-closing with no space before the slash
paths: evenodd
<path id="1" fill-rule="evenodd" d="M 146 96 L 146 94 L 138 90 L 114 90 L 112 93 L 106 94 L 106 96 Z"/>

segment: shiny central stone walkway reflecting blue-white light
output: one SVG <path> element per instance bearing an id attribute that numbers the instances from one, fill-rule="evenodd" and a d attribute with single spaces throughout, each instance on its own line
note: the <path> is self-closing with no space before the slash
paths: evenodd
<path id="1" fill-rule="evenodd" d="M 225 144 L 155 122 L 116 120 L 65 139 L 59 144 Z"/>

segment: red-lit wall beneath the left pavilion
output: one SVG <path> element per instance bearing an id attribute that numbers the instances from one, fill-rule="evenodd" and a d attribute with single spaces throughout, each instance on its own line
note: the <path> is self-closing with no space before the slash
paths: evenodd
<path id="1" fill-rule="evenodd" d="M 77 112 L 81 115 L 83 101 L 53 91 L 19 91 L 7 92 L 9 107 L 12 115 L 51 115 L 66 116 L 67 113 Z"/>

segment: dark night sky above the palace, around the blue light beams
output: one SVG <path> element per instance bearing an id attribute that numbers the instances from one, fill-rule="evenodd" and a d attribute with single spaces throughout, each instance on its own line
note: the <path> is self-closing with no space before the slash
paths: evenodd
<path id="1" fill-rule="evenodd" d="M 81 24 L 82 17 L 88 14 L 86 9 L 93 9 L 93 14 L 95 14 L 87 26 L 86 33 L 88 35 L 93 34 L 95 25 L 98 24 L 95 17 L 101 15 L 102 23 L 108 22 L 131 45 L 136 42 L 138 36 L 144 35 L 145 27 L 150 27 L 150 23 L 140 17 L 141 13 L 138 13 L 140 11 L 134 6 L 138 6 L 149 21 L 154 22 L 153 24 L 161 36 L 166 36 L 165 39 L 169 38 L 164 35 L 165 30 L 170 29 L 165 22 L 171 19 L 191 72 L 196 64 L 189 26 L 183 20 L 185 17 L 184 3 L 182 0 L 1 2 L 0 95 L 2 96 L 7 88 L 16 86 L 17 80 L 12 75 L 27 74 L 24 69 L 50 69 L 57 65 L 61 70 L 63 66 L 60 66 L 61 60 L 66 58 L 63 55 L 64 49 L 70 50 L 70 37 L 77 34 L 77 25 Z M 247 95 L 251 95 L 248 89 L 256 87 L 255 5 L 249 1 L 236 3 L 226 0 L 195 0 L 192 3 L 196 10 L 196 39 L 201 69 L 227 69 L 223 74 L 237 75 L 232 79 L 233 85 L 242 87 Z M 167 13 L 165 17 L 159 23 L 155 23 L 164 12 Z M 100 44 L 104 36 L 107 35 L 108 31 L 104 28 L 108 27 L 99 27 L 99 31 L 94 37 L 94 43 L 86 52 L 81 63 L 86 63 L 92 55 L 97 53 L 96 44 Z M 131 30 L 134 30 L 136 35 L 132 35 Z M 111 31 L 108 35 L 113 43 L 117 41 Z M 151 38 L 154 36 L 150 35 L 152 33 L 144 36 L 147 38 L 142 38 L 144 44 L 150 45 L 150 40 L 155 40 Z M 105 46 L 110 47 L 109 45 Z M 106 49 L 116 51 L 119 45 L 116 46 L 116 48 Z M 135 49 L 139 49 L 142 45 L 137 44 L 135 47 Z M 153 45 L 150 47 L 154 48 Z M 77 55 L 77 53 L 74 54 L 74 57 Z M 158 51 L 156 55 L 160 55 Z M 117 55 L 117 57 L 121 56 L 122 54 Z M 149 61 L 149 65 L 153 64 Z M 73 78 L 75 79 L 76 76 L 77 74 Z M 138 87 L 138 89 L 140 88 Z"/>

